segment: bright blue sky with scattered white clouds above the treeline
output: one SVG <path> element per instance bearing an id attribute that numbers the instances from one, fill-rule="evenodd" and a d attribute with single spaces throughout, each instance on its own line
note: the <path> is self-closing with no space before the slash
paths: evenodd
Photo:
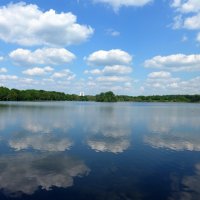
<path id="1" fill-rule="evenodd" d="M 1 0 L 0 86 L 200 93 L 200 0 Z"/>

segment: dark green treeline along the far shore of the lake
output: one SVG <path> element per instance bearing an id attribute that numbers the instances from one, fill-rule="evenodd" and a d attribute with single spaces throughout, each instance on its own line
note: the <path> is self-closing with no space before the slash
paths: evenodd
<path id="1" fill-rule="evenodd" d="M 44 90 L 17 90 L 0 87 L 0 101 L 97 101 L 97 102 L 200 102 L 200 95 L 127 96 L 113 92 L 79 96 Z"/>

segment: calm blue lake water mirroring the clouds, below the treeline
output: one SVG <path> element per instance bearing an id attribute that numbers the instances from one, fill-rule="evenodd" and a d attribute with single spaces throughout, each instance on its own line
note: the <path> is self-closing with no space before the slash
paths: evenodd
<path id="1" fill-rule="evenodd" d="M 200 104 L 0 103 L 0 200 L 200 199 Z"/>

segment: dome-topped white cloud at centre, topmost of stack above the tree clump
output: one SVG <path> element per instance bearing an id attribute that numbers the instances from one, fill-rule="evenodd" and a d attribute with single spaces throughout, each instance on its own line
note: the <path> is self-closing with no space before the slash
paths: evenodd
<path id="1" fill-rule="evenodd" d="M 132 56 L 120 49 L 99 50 L 90 54 L 86 60 L 91 66 L 129 65 L 132 62 Z"/>

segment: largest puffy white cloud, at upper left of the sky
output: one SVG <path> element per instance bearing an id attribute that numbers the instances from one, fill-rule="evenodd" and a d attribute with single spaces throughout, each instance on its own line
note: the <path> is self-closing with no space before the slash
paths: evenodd
<path id="1" fill-rule="evenodd" d="M 72 13 L 43 12 L 26 3 L 0 8 L 0 39 L 5 42 L 66 46 L 86 41 L 93 32 L 91 27 L 78 24 Z"/>

